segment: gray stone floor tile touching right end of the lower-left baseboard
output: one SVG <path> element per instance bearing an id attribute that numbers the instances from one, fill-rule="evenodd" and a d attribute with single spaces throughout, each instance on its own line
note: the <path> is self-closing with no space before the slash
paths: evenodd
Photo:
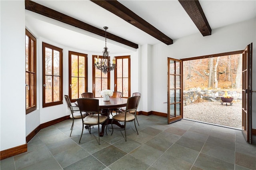
<path id="1" fill-rule="evenodd" d="M 50 153 L 48 148 L 42 147 L 42 148 L 39 148 L 38 150 L 32 150 L 30 152 L 25 152 L 23 154 L 14 156 L 14 163 L 15 163 L 16 169 L 21 169 L 26 166 L 40 162 L 41 160 L 44 160 L 51 156 L 52 154 Z"/>

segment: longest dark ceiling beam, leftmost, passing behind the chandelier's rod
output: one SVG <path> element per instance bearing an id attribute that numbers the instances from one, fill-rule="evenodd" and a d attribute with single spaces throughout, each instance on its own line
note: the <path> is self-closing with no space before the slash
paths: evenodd
<path id="1" fill-rule="evenodd" d="M 46 6 L 37 4 L 36 2 L 30 1 L 30 0 L 25 0 L 25 9 L 35 12 L 37 14 L 41 14 L 43 16 L 52 18 L 54 20 L 58 20 L 65 24 L 80 28 L 82 30 L 92 32 L 99 36 L 105 37 L 105 30 L 100 30 L 99 28 L 96 28 L 94 26 L 86 24 L 80 20 L 77 20 L 77 19 L 67 16 L 65 14 L 62 14 L 58 11 L 52 10 L 51 8 L 48 8 Z M 136 49 L 138 48 L 138 44 L 130 42 L 128 40 L 125 40 L 124 38 L 115 36 L 114 34 L 110 34 L 109 32 L 107 32 L 107 38 L 110 40 L 122 43 L 124 45 L 128 45 L 130 47 L 136 48 Z"/>

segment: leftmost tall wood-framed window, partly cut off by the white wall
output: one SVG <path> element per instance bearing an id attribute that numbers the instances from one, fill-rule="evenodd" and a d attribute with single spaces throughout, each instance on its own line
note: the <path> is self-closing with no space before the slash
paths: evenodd
<path id="1" fill-rule="evenodd" d="M 36 38 L 28 30 L 26 41 L 26 114 L 36 110 Z"/>

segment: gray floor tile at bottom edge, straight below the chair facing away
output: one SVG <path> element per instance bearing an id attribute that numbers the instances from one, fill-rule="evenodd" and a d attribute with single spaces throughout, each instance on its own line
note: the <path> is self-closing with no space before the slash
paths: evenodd
<path id="1" fill-rule="evenodd" d="M 90 170 L 103 170 L 104 168 L 106 168 L 104 164 L 102 164 L 100 161 L 98 161 L 96 158 L 90 155 L 63 169 L 64 170 L 84 170 L 84 169 L 87 169 L 88 167 L 90 167 Z"/>

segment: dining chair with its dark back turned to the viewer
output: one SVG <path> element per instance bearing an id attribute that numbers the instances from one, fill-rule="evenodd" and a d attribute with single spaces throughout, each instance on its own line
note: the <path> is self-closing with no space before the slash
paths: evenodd
<path id="1" fill-rule="evenodd" d="M 84 132 L 84 125 L 87 125 L 89 127 L 88 130 L 90 134 L 91 134 L 91 126 L 98 125 L 98 138 L 99 138 L 98 143 L 100 145 L 100 125 L 105 123 L 108 117 L 99 114 L 99 100 L 90 99 L 90 98 L 81 98 L 81 99 L 77 99 L 77 103 L 78 103 L 78 107 L 81 115 L 83 112 L 96 113 L 96 115 L 88 115 L 82 118 L 83 127 L 82 127 L 82 134 L 81 134 L 79 143 L 81 141 L 81 138 Z"/>

